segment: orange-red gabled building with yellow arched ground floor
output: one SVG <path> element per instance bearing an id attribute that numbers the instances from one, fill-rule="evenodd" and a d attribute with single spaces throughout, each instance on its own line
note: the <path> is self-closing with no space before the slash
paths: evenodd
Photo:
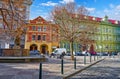
<path id="1" fill-rule="evenodd" d="M 25 36 L 25 49 L 39 50 L 40 53 L 51 53 L 59 46 L 58 26 L 47 22 L 42 17 L 29 21 Z"/>

